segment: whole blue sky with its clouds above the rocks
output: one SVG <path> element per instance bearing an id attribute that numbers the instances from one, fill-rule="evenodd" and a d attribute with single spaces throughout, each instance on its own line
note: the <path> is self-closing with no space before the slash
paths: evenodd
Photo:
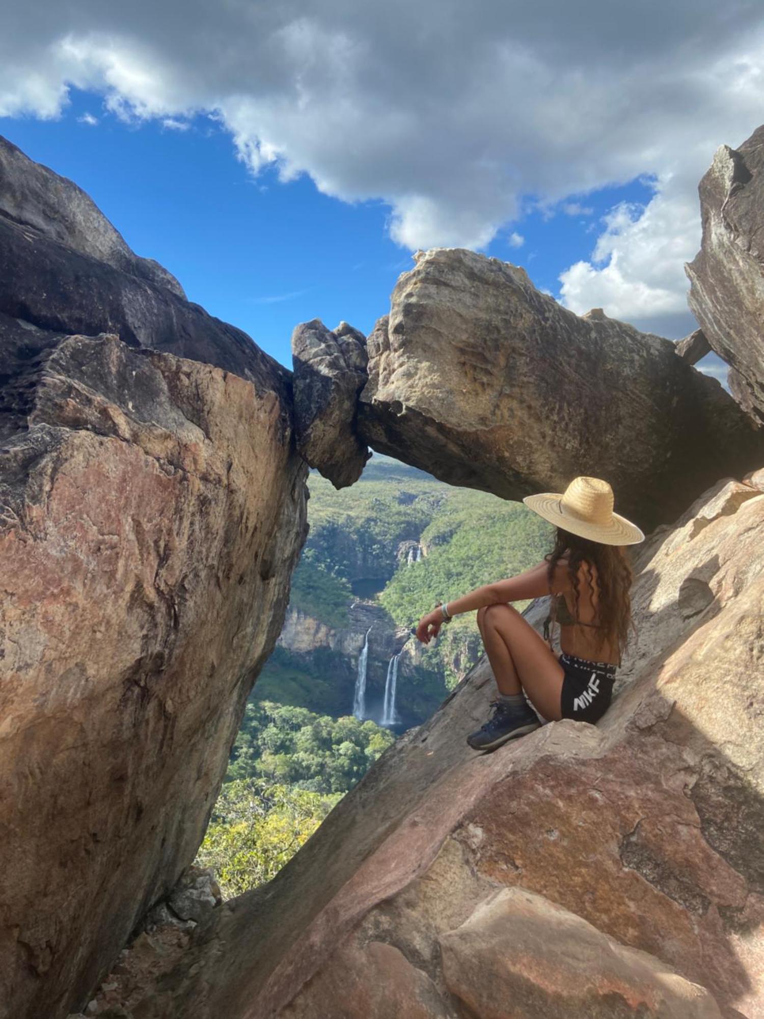
<path id="1" fill-rule="evenodd" d="M 417 248 L 678 337 L 698 181 L 764 110 L 752 0 L 7 0 L 0 130 L 289 363 Z M 718 369 L 718 365 L 717 365 Z M 717 371 L 718 374 L 718 371 Z"/>

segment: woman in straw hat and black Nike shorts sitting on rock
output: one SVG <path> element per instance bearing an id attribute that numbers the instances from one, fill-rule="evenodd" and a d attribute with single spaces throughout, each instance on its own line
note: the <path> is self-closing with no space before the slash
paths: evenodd
<path id="1" fill-rule="evenodd" d="M 436 607 L 417 627 L 417 637 L 429 644 L 453 615 L 478 610 L 499 694 L 490 719 L 468 737 L 475 750 L 493 750 L 538 729 L 528 701 L 549 721 L 601 718 L 610 704 L 631 623 L 632 568 L 623 546 L 645 536 L 613 513 L 610 485 L 599 478 L 576 478 L 564 494 L 529 495 L 523 501 L 557 526 L 554 548 L 544 561 Z M 551 595 L 544 626 L 548 645 L 507 604 L 543 595 Z M 559 657 L 550 634 L 555 622 L 560 627 Z"/>

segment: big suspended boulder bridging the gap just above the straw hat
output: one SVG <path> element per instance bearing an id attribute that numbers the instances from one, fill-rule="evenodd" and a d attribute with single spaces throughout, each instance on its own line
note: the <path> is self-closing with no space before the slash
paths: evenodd
<path id="1" fill-rule="evenodd" d="M 367 347 L 362 438 L 451 484 L 516 499 L 591 474 L 650 530 L 764 457 L 761 433 L 672 342 L 580 318 L 473 252 L 421 254 Z"/>

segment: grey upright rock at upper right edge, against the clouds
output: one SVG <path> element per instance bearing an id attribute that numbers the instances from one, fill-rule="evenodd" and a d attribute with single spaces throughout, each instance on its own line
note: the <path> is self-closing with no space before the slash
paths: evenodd
<path id="1" fill-rule="evenodd" d="M 686 266 L 690 307 L 730 366 L 729 388 L 764 422 L 764 126 L 723 145 L 700 182 L 703 240 Z"/>

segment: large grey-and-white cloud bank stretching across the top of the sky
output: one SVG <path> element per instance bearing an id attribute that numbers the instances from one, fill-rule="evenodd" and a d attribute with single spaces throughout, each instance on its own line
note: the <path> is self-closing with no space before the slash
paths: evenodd
<path id="1" fill-rule="evenodd" d="M 654 177 L 653 200 L 612 212 L 561 298 L 671 328 L 698 179 L 764 110 L 764 9 L 748 0 L 38 6 L 31 23 L 26 0 L 4 5 L 0 115 L 57 116 L 70 86 L 127 119 L 207 113 L 253 173 L 384 201 L 412 250 L 483 248 L 529 197 L 586 216 L 593 191 Z"/>

